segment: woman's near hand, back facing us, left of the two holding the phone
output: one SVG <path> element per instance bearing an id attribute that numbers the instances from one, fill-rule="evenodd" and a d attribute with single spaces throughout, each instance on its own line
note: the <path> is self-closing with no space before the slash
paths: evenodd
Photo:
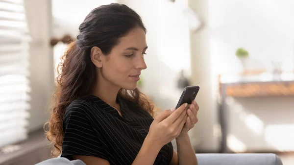
<path id="1" fill-rule="evenodd" d="M 172 111 L 165 110 L 154 118 L 147 138 L 161 147 L 172 141 L 180 133 L 187 118 L 187 103 Z"/>

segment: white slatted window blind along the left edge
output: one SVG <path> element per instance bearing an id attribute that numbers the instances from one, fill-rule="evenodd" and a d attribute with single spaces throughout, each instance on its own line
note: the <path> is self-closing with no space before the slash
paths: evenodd
<path id="1" fill-rule="evenodd" d="M 29 42 L 24 1 L 0 0 L 0 147 L 27 137 Z"/>

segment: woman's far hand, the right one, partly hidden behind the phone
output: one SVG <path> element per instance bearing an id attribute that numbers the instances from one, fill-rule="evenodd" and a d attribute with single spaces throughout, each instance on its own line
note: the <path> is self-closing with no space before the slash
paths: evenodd
<path id="1" fill-rule="evenodd" d="M 179 137 L 188 135 L 188 131 L 194 127 L 194 125 L 198 122 L 197 112 L 199 110 L 199 106 L 195 100 L 193 100 L 192 104 L 190 104 L 187 109 L 187 118 L 185 125 L 180 133 Z"/>

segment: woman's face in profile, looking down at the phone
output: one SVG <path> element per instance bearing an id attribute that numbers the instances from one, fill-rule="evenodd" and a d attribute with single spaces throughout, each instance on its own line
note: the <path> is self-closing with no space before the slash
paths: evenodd
<path id="1" fill-rule="evenodd" d="M 146 34 L 142 28 L 131 30 L 119 39 L 108 55 L 101 56 L 98 78 L 119 88 L 134 90 L 142 70 L 147 68 L 144 54 Z M 100 81 L 100 80 L 99 80 Z"/>

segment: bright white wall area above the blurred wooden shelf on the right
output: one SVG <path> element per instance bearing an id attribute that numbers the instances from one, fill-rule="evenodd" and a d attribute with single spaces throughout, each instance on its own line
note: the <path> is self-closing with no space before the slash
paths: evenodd
<path id="1" fill-rule="evenodd" d="M 293 6 L 293 0 L 209 0 L 213 71 L 240 71 L 238 47 L 245 47 L 266 69 L 275 60 L 283 62 L 285 71 L 293 71 Z"/>

